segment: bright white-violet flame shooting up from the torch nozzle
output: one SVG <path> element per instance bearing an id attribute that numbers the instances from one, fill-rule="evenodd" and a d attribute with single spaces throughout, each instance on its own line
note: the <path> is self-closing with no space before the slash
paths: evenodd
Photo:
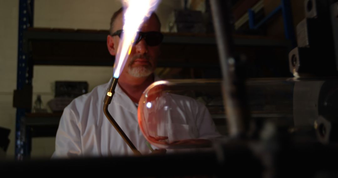
<path id="1" fill-rule="evenodd" d="M 115 57 L 114 77 L 119 78 L 131 52 L 133 42 L 141 24 L 150 17 L 160 0 L 123 0 L 127 7 L 124 12 L 123 33 Z"/>

